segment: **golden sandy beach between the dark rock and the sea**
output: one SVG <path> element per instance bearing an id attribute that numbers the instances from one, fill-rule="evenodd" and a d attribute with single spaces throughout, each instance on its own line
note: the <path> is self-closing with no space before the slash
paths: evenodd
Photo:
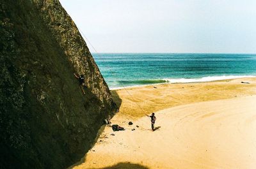
<path id="1" fill-rule="evenodd" d="M 125 131 L 102 127 L 92 149 L 70 168 L 256 168 L 256 78 L 112 94 L 120 112 L 111 122 Z M 151 112 L 154 132 L 145 116 Z"/>

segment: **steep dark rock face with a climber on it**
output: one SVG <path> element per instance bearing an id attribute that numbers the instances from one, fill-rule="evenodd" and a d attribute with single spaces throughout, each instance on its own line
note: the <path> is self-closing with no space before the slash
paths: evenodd
<path id="1" fill-rule="evenodd" d="M 0 168 L 72 165 L 116 109 L 86 43 L 57 0 L 2 0 L 0 33 Z"/>

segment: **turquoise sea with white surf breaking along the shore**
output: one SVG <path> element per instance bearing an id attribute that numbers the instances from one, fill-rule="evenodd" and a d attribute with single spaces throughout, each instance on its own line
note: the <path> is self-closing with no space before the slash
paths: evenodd
<path id="1" fill-rule="evenodd" d="M 92 55 L 110 89 L 256 77 L 256 54 Z"/>

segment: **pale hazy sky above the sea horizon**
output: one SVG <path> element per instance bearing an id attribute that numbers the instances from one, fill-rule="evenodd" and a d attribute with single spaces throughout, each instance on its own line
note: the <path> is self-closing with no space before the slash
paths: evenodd
<path id="1" fill-rule="evenodd" d="M 60 2 L 91 52 L 256 53 L 255 0 Z"/>

